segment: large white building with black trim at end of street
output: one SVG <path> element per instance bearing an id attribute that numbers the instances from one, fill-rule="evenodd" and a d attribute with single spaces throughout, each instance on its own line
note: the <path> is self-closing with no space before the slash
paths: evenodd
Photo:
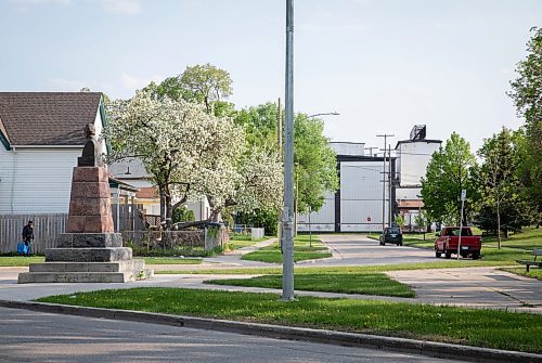
<path id="1" fill-rule="evenodd" d="M 298 231 L 317 232 L 367 232 L 380 231 L 383 208 L 385 224 L 389 224 L 389 190 L 386 184 L 383 203 L 384 159 L 365 155 L 364 143 L 331 142 L 337 153 L 337 171 L 340 187 L 325 196 L 324 206 L 318 212 L 298 216 Z M 391 173 L 396 159 L 391 157 Z M 388 172 L 389 159 L 386 164 Z M 391 200 L 395 192 L 391 190 Z M 393 208 L 393 204 L 392 208 Z M 392 210 L 391 220 L 396 211 Z"/>

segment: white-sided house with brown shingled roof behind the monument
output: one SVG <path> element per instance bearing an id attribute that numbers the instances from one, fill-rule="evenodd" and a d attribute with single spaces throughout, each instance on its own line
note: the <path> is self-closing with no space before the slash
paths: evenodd
<path id="1" fill-rule="evenodd" d="M 102 93 L 0 92 L 0 215 L 68 212 L 87 124 L 105 126 Z"/>

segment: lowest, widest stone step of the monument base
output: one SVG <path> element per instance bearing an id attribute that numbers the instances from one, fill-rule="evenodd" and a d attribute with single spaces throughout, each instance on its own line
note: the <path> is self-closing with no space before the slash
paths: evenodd
<path id="1" fill-rule="evenodd" d="M 20 284 L 34 283 L 127 283 L 152 277 L 153 270 L 126 272 L 25 272 L 18 274 Z"/>

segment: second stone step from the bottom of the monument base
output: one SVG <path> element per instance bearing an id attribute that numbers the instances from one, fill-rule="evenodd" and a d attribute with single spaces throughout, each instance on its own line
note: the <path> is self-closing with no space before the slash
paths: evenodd
<path id="1" fill-rule="evenodd" d="M 125 272 L 143 270 L 143 260 L 116 262 L 43 262 L 30 263 L 30 272 Z"/>

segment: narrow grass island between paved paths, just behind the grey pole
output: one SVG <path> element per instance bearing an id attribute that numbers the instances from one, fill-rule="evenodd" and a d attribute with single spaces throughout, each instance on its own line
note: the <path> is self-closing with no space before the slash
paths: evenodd
<path id="1" fill-rule="evenodd" d="M 282 288 L 282 275 L 263 275 L 253 278 L 211 280 L 206 284 Z M 406 285 L 389 278 L 382 272 L 364 273 L 305 273 L 296 274 L 295 289 L 341 294 L 363 294 L 413 298 Z"/>

